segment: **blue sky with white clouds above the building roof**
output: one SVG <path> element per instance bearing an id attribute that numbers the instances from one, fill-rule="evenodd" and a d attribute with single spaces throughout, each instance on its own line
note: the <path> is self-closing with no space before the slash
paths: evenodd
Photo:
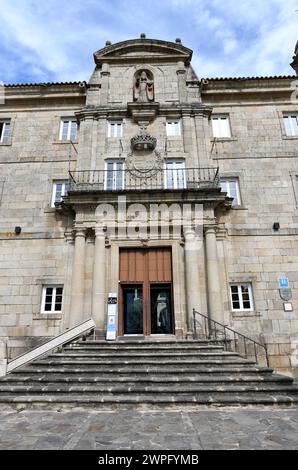
<path id="1" fill-rule="evenodd" d="M 298 0 L 0 0 L 0 80 L 88 80 L 105 41 L 193 49 L 200 77 L 291 75 Z"/>

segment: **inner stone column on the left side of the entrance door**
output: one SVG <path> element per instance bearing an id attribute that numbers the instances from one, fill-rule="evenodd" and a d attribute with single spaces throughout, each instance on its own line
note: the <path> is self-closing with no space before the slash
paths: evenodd
<path id="1" fill-rule="evenodd" d="M 95 248 L 92 285 L 92 318 L 97 329 L 104 331 L 106 314 L 105 234 L 102 227 L 95 229 Z"/>

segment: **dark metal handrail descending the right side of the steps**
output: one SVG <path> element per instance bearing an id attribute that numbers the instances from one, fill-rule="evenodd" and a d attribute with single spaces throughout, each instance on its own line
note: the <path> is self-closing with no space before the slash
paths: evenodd
<path id="1" fill-rule="evenodd" d="M 255 341 L 252 338 L 249 338 L 248 336 L 243 335 L 242 333 L 239 333 L 238 331 L 233 330 L 232 328 L 223 325 L 222 323 L 219 323 L 216 320 L 212 320 L 211 318 L 207 317 L 201 312 L 198 312 L 196 309 L 193 309 L 193 336 L 194 339 L 197 339 L 197 319 L 196 315 L 200 316 L 203 318 L 204 322 L 204 328 L 203 328 L 203 336 L 206 339 L 215 339 L 215 340 L 220 340 L 224 343 L 224 348 L 225 351 L 231 351 L 232 344 L 234 346 L 234 351 L 239 352 L 242 356 L 245 358 L 248 358 L 249 356 L 254 356 L 255 357 L 255 362 L 256 364 L 260 364 L 259 360 L 259 354 L 258 354 L 258 348 L 262 348 L 264 350 L 264 356 L 266 358 L 266 365 L 269 367 L 269 357 L 268 357 L 268 350 L 267 346 L 265 344 L 259 343 L 258 341 Z M 220 327 L 220 329 L 218 328 Z M 232 333 L 232 338 L 230 338 L 228 331 Z M 221 336 L 221 338 L 220 338 Z M 243 340 L 243 349 L 240 350 L 240 342 L 239 338 L 242 338 Z M 248 353 L 248 343 L 253 344 L 253 354 Z"/>

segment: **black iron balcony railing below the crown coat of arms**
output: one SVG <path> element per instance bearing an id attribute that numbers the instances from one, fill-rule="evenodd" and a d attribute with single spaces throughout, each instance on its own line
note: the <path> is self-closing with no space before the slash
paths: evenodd
<path id="1" fill-rule="evenodd" d="M 158 171 L 83 170 L 69 172 L 68 191 L 200 190 L 219 185 L 218 168 Z"/>

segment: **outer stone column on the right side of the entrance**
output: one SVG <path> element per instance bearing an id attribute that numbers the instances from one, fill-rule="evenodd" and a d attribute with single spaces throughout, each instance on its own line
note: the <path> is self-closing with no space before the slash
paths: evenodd
<path id="1" fill-rule="evenodd" d="M 207 297 L 211 320 L 224 323 L 215 226 L 205 227 Z"/>

